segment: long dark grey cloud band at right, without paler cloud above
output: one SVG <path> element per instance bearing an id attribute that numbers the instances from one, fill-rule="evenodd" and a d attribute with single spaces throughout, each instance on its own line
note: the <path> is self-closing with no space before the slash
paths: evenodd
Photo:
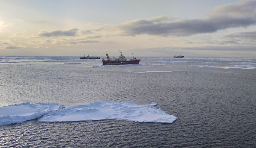
<path id="1" fill-rule="evenodd" d="M 160 35 L 160 36 L 189 36 L 199 33 L 212 33 L 221 29 L 247 27 L 255 25 L 256 19 L 236 17 L 209 17 L 206 19 L 179 20 L 171 23 L 153 22 L 150 20 L 134 20 L 118 26 L 119 35 Z"/>

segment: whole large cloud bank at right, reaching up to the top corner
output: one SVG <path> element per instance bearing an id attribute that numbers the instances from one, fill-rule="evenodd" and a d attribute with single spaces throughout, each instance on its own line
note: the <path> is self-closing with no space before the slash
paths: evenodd
<path id="1" fill-rule="evenodd" d="M 190 36 L 212 33 L 218 30 L 256 25 L 256 1 L 241 1 L 212 9 L 213 16 L 186 20 L 169 17 L 154 17 L 148 20 L 133 20 L 114 26 L 116 35 Z"/>

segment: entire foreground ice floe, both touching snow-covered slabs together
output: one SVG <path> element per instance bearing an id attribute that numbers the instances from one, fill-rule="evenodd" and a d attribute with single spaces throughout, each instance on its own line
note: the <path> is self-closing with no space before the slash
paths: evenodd
<path id="1" fill-rule="evenodd" d="M 73 122 L 90 120 L 128 120 L 133 122 L 172 123 L 177 117 L 165 113 L 157 103 L 92 102 L 64 108 L 58 103 L 22 103 L 0 107 L 0 125 L 20 123 L 43 116 L 39 122 Z"/>

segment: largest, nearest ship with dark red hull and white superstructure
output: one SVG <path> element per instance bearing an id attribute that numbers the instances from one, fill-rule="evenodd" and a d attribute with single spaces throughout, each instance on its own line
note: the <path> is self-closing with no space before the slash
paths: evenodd
<path id="1" fill-rule="evenodd" d="M 120 51 L 120 56 L 118 59 L 114 58 L 111 59 L 108 54 L 106 53 L 106 56 L 108 60 L 105 60 L 104 58 L 102 59 L 103 65 L 126 65 L 126 64 L 139 64 L 140 59 L 134 58 L 134 55 L 132 54 L 132 59 L 126 60 L 125 56 L 122 55 L 122 51 Z"/>

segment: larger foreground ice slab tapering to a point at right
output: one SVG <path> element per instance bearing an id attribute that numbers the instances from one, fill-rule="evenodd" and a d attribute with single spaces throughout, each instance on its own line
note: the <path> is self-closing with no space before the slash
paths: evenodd
<path id="1" fill-rule="evenodd" d="M 72 122 L 90 120 L 129 120 L 134 122 L 172 123 L 177 117 L 165 113 L 157 103 L 138 105 L 134 102 L 92 102 L 52 111 L 39 122 Z"/>

